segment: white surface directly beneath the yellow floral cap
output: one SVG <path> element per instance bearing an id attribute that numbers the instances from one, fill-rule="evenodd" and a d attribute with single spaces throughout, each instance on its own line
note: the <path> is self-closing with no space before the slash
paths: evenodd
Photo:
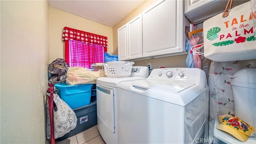
<path id="1" fill-rule="evenodd" d="M 218 125 L 218 117 L 216 116 L 215 123 L 214 123 L 214 136 L 221 140 L 222 142 L 225 142 L 227 144 L 256 144 L 256 137 L 249 137 L 246 142 L 242 142 L 230 134 L 223 132 L 222 130 L 218 130 L 216 126 Z"/>

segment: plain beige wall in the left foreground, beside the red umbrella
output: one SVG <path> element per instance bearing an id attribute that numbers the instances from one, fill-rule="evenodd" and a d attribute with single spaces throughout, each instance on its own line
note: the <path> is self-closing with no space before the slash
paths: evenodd
<path id="1" fill-rule="evenodd" d="M 0 1 L 1 143 L 43 144 L 48 1 Z"/>

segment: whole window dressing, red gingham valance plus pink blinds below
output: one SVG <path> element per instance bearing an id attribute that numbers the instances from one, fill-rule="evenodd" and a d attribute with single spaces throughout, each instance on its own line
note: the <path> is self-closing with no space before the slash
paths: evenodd
<path id="1" fill-rule="evenodd" d="M 108 37 L 64 27 L 65 60 L 70 67 L 90 68 L 93 63 L 104 62 Z"/>

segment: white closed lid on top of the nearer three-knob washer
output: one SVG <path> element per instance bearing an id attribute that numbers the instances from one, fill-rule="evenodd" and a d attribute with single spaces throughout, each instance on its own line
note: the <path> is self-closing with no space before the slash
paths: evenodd
<path id="1" fill-rule="evenodd" d="M 159 91 L 165 91 L 170 93 L 178 93 L 186 90 L 187 88 L 194 86 L 195 84 L 181 83 L 181 82 L 168 82 L 161 80 L 138 80 L 133 82 L 126 82 L 132 86 L 145 89 L 153 89 Z"/>

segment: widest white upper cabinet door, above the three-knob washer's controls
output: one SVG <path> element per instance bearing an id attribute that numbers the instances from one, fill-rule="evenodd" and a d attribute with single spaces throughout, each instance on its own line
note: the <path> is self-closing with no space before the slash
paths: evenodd
<path id="1" fill-rule="evenodd" d="M 183 1 L 162 0 L 142 13 L 143 57 L 183 52 Z"/>

